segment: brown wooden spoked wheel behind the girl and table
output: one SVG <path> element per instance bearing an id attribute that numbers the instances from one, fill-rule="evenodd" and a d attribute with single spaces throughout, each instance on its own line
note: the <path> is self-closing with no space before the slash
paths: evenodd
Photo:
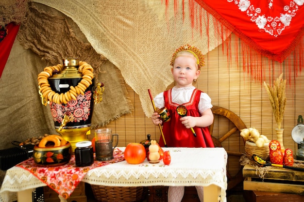
<path id="1" fill-rule="evenodd" d="M 230 111 L 229 109 L 225 109 L 225 108 L 218 107 L 218 106 L 213 106 L 212 112 L 214 114 L 214 121 L 213 121 L 213 124 L 211 124 L 209 126 L 209 131 L 210 131 L 210 135 L 212 137 L 215 147 L 224 147 L 228 154 L 228 163 L 227 163 L 228 187 L 227 187 L 227 190 L 229 190 L 243 181 L 243 175 L 242 175 L 243 167 L 240 166 L 239 163 L 238 163 L 238 171 L 234 171 L 234 172 L 236 172 L 236 174 L 232 175 L 230 173 L 230 170 L 233 170 L 233 169 L 229 168 L 229 161 L 232 158 L 235 158 L 236 160 L 239 159 L 239 157 L 242 155 L 242 153 L 240 151 L 233 151 L 233 150 L 230 151 L 230 147 L 232 147 L 232 146 L 230 145 L 229 140 L 230 140 L 230 138 L 234 137 L 234 140 L 239 140 L 240 142 L 232 141 L 231 144 L 234 144 L 233 147 L 235 148 L 236 147 L 235 143 L 238 143 L 239 150 L 244 148 L 246 141 L 242 137 L 239 136 L 239 133 L 242 129 L 247 128 L 247 127 L 244 124 L 244 122 L 239 118 L 239 116 L 237 116 L 234 112 Z M 216 115 L 218 115 L 218 116 L 216 116 Z M 215 123 L 216 118 L 218 119 L 218 123 Z M 228 122 L 227 122 L 227 120 L 224 120 L 223 118 L 228 119 Z M 218 127 L 220 127 L 220 126 L 222 127 L 222 124 L 219 123 L 221 121 L 224 121 L 227 123 L 227 124 L 223 124 L 223 125 L 227 126 L 228 132 L 224 135 L 218 134 L 219 138 L 216 138 L 214 135 L 214 124 L 218 124 Z M 218 128 L 218 131 L 220 132 L 219 128 Z M 243 145 L 241 145 L 242 143 L 243 143 Z M 225 145 L 223 145 L 223 144 L 225 144 Z M 235 170 L 237 170 L 237 169 L 235 168 Z"/>

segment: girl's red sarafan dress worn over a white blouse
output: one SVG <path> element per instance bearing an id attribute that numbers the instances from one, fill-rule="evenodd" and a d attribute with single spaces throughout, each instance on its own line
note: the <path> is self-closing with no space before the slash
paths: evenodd
<path id="1" fill-rule="evenodd" d="M 202 116 L 199 112 L 198 105 L 202 91 L 194 89 L 190 101 L 183 104 L 177 104 L 171 100 L 171 90 L 164 92 L 165 107 L 169 110 L 171 120 L 163 124 L 163 133 L 168 147 L 214 147 L 208 127 L 194 127 L 197 135 L 195 137 L 190 128 L 186 128 L 180 121 L 182 118 L 176 111 L 180 105 L 187 109 L 187 116 Z M 164 141 L 160 137 L 159 145 L 164 146 Z"/>

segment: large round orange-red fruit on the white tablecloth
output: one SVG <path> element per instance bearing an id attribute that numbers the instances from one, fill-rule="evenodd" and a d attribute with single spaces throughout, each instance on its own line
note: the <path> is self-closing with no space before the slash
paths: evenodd
<path id="1" fill-rule="evenodd" d="M 146 149 L 140 143 L 129 143 L 124 151 L 124 158 L 130 164 L 139 164 L 146 159 Z"/>

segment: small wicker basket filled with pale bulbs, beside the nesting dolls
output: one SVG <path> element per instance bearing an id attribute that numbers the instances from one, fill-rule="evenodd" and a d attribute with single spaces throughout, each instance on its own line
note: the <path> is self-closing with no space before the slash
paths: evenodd
<path id="1" fill-rule="evenodd" d="M 240 132 L 240 136 L 246 140 L 245 153 L 248 158 L 252 155 L 258 155 L 264 160 L 269 160 L 269 142 L 265 135 L 260 135 L 255 128 L 244 128 Z"/>

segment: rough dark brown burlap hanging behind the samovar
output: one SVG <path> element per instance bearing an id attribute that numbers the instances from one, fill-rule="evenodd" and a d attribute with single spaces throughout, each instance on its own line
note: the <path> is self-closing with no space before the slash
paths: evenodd
<path id="1" fill-rule="evenodd" d="M 93 128 L 133 110 L 118 68 L 86 43 L 70 18 L 43 4 L 35 5 L 29 7 L 17 35 L 19 41 L 15 41 L 0 78 L 0 148 L 12 147 L 12 140 L 56 133 L 50 107 L 41 104 L 37 75 L 46 66 L 62 63 L 61 58 L 80 57 L 105 84 L 103 99 L 94 106 Z"/>

